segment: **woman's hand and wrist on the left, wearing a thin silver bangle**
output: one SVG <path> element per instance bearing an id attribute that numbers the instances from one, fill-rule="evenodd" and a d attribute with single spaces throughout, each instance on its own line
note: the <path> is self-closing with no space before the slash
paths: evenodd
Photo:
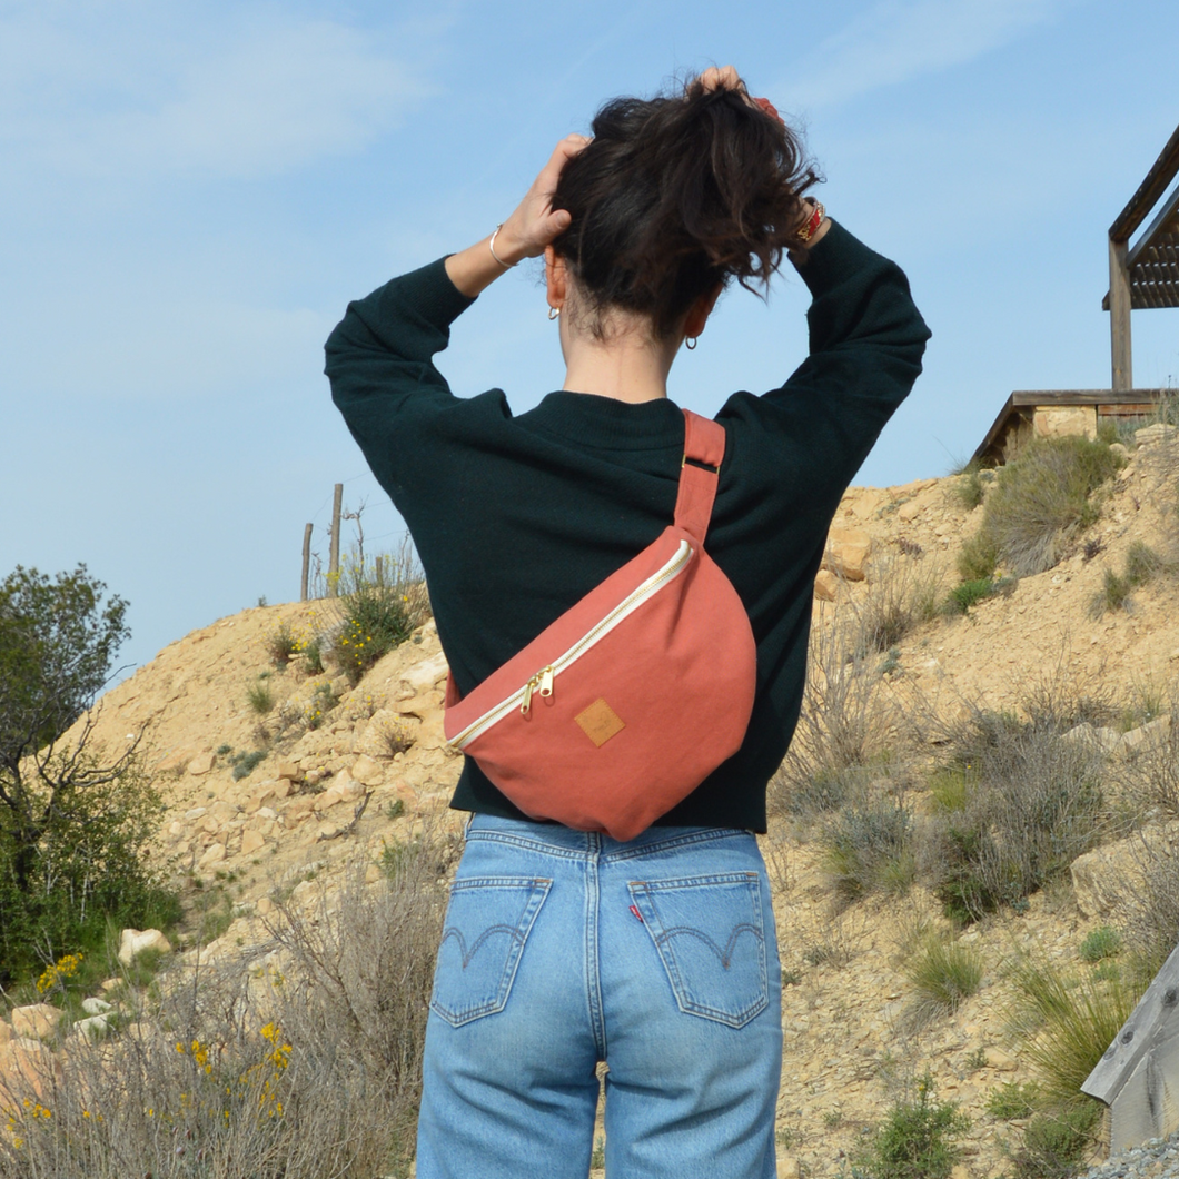
<path id="1" fill-rule="evenodd" d="M 569 228 L 573 218 L 565 209 L 553 209 L 553 193 L 561 170 L 587 143 L 586 136 L 566 136 L 556 145 L 523 200 L 496 230 L 494 253 L 488 235 L 446 259 L 446 272 L 463 295 L 474 298 L 505 270 L 525 258 L 539 257 L 549 242 Z"/>

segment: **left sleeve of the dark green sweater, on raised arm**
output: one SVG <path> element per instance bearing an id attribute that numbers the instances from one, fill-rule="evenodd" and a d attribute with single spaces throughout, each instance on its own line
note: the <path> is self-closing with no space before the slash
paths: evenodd
<path id="1" fill-rule="evenodd" d="M 349 303 L 324 347 L 332 401 L 387 488 L 399 442 L 409 441 L 415 421 L 459 401 L 434 356 L 474 299 L 455 288 L 444 263 L 439 258 Z"/>

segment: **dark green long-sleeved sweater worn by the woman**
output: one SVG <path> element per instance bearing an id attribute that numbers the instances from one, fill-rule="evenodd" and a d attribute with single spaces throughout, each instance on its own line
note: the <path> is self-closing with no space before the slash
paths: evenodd
<path id="1" fill-rule="evenodd" d="M 765 830 L 828 526 L 921 371 L 929 331 L 894 263 L 832 224 L 801 274 L 809 357 L 717 414 L 725 457 L 705 547 L 749 611 L 757 700 L 740 750 L 664 824 Z M 332 397 L 409 526 L 463 694 L 659 535 L 684 446 L 670 401 L 559 391 L 514 416 L 501 389 L 455 397 L 433 357 L 470 302 L 440 259 L 350 303 L 327 344 Z M 525 817 L 470 758 L 452 805 Z"/>

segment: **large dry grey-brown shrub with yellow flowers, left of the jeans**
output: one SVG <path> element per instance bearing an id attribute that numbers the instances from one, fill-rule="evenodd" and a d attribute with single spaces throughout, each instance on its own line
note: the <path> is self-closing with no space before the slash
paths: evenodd
<path id="1" fill-rule="evenodd" d="M 117 1039 L 72 1042 L 55 1074 L 26 1079 L 31 1104 L 8 1133 L 0 1121 L 0 1174 L 406 1174 L 446 858 L 422 839 L 376 888 L 354 881 L 314 915 L 284 905 L 265 969 L 162 976 Z"/>

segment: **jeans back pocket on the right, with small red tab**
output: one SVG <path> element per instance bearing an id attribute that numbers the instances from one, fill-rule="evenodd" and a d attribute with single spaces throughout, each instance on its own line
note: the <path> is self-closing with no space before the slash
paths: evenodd
<path id="1" fill-rule="evenodd" d="M 756 872 L 633 881 L 628 888 L 681 1012 L 739 1028 L 765 1009 Z"/>

